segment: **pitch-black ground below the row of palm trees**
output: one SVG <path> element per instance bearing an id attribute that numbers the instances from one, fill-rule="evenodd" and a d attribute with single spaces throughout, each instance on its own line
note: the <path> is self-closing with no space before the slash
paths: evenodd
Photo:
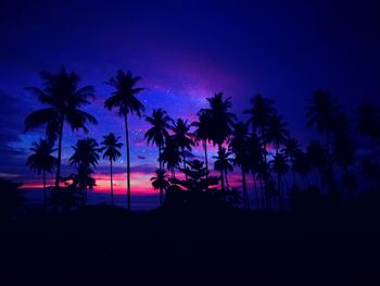
<path id="1" fill-rule="evenodd" d="M 96 207 L 2 222 L 0 285 L 380 285 L 375 212 Z"/>

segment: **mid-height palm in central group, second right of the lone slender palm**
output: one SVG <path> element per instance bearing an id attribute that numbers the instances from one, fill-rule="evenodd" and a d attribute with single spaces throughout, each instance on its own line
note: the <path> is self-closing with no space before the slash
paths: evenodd
<path id="1" fill-rule="evenodd" d="M 174 140 L 175 145 L 181 150 L 182 153 L 182 160 L 183 160 L 183 169 L 186 169 L 186 151 L 191 151 L 191 146 L 193 146 L 193 141 L 191 140 L 191 134 L 190 134 L 190 125 L 188 121 L 183 121 L 182 119 L 178 119 L 176 122 L 173 123 L 172 126 L 173 135 L 172 139 Z M 186 175 L 187 177 L 187 175 Z"/>

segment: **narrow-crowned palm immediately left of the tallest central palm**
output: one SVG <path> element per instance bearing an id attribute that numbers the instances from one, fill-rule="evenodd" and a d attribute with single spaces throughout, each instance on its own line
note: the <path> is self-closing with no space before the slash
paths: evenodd
<path id="1" fill-rule="evenodd" d="M 197 129 L 194 130 L 194 141 L 195 144 L 202 142 L 204 150 L 204 162 L 206 166 L 206 177 L 208 176 L 208 158 L 207 158 L 207 141 L 211 140 L 212 134 L 212 124 L 210 119 L 210 113 L 207 112 L 198 112 L 198 122 L 191 123 Z"/>

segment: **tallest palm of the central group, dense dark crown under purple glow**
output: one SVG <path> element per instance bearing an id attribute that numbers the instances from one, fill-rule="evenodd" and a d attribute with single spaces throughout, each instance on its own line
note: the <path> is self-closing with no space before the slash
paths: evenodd
<path id="1" fill-rule="evenodd" d="M 221 151 L 223 144 L 232 132 L 232 125 L 236 120 L 236 115 L 229 110 L 232 107 L 231 98 L 223 99 L 223 94 L 215 94 L 214 97 L 207 98 L 210 108 L 202 109 L 200 112 L 205 113 L 210 122 L 210 139 L 213 145 L 218 147 L 218 153 L 223 154 L 226 151 Z M 224 185 L 224 171 L 220 169 L 220 184 L 221 191 L 225 191 Z"/>

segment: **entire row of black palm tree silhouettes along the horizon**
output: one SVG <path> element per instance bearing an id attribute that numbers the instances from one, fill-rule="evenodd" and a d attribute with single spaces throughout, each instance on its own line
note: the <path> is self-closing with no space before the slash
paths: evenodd
<path id="1" fill-rule="evenodd" d="M 77 173 L 66 178 L 61 176 L 64 124 L 71 126 L 73 130 L 83 129 L 87 133 L 86 125 L 97 123 L 92 115 L 80 109 L 94 98 L 93 87 L 79 88 L 78 75 L 67 73 L 64 69 L 59 74 L 43 72 L 41 77 L 45 88 L 28 88 L 28 90 L 33 91 L 47 108 L 37 110 L 26 117 L 25 130 L 45 125 L 47 139 L 35 144 L 31 148 L 35 153 L 28 158 L 27 164 L 34 171 L 43 174 L 43 189 L 46 189 L 46 173 L 51 173 L 55 169 L 55 191 L 61 188 L 60 183 L 67 182 L 68 178 L 72 186 L 81 190 L 85 202 L 87 188 L 94 185 L 91 167 L 97 165 L 99 153 L 103 152 L 103 159 L 109 160 L 111 166 L 113 203 L 112 166 L 122 156 L 121 137 L 112 133 L 105 135 L 101 147 L 92 138 L 78 140 L 73 147 L 74 154 L 69 159 Z M 137 98 L 143 90 L 137 87 L 139 80 L 140 77 L 134 76 L 130 72 L 117 71 L 107 82 L 114 91 L 104 102 L 107 110 L 116 109 L 125 121 L 128 209 L 130 209 L 128 119 L 134 114 L 139 117 L 144 115 L 144 107 Z M 207 102 L 208 107 L 201 109 L 198 112 L 198 121 L 192 123 L 183 119 L 173 120 L 163 109 L 154 109 L 151 115 L 144 115 L 151 125 L 144 138 L 148 144 L 157 148 L 159 167 L 151 181 L 153 188 L 160 190 L 161 204 L 165 203 L 165 196 L 169 189 L 190 191 L 194 189 L 195 183 L 201 183 L 202 179 L 208 182 L 210 145 L 217 147 L 217 154 L 213 157 L 214 170 L 219 172 L 217 177 L 219 188 L 216 192 L 224 194 L 221 197 L 226 199 L 227 194 L 236 191 L 229 186 L 228 174 L 233 167 L 239 167 L 244 209 L 252 207 L 250 194 L 254 196 L 257 209 L 268 209 L 274 203 L 279 209 L 286 209 L 288 195 L 295 195 L 302 189 L 317 191 L 320 196 L 328 197 L 331 202 L 339 199 L 340 189 L 346 191 L 347 198 L 353 198 L 357 189 L 359 169 L 367 181 L 371 182 L 371 187 L 378 186 L 380 110 L 373 102 L 363 101 L 355 112 L 355 117 L 349 119 L 337 98 L 327 90 L 316 90 L 306 112 L 307 125 L 316 127 L 325 139 L 322 142 L 313 140 L 306 148 L 302 148 L 290 135 L 288 124 L 278 114 L 275 101 L 271 99 L 262 95 L 254 96 L 250 108 L 244 111 L 248 115 L 246 122 L 237 120 L 231 112 L 231 99 L 224 98 L 221 92 L 207 98 Z M 371 146 L 371 152 L 358 157 L 355 152 L 358 140 L 367 140 Z M 56 141 L 58 148 L 54 149 Z M 204 167 L 203 162 L 198 159 L 191 160 L 192 148 L 199 145 L 204 150 Z M 58 158 L 52 156 L 55 150 Z M 357 164 L 358 158 L 360 164 Z M 185 174 L 187 183 L 179 184 L 181 187 L 178 186 L 176 170 Z M 251 191 L 249 175 L 252 176 Z M 214 178 L 210 182 L 217 184 Z M 192 187 L 189 182 L 194 183 Z M 202 190 L 215 191 L 215 188 L 210 188 L 212 184 L 208 183 L 203 185 Z"/>

